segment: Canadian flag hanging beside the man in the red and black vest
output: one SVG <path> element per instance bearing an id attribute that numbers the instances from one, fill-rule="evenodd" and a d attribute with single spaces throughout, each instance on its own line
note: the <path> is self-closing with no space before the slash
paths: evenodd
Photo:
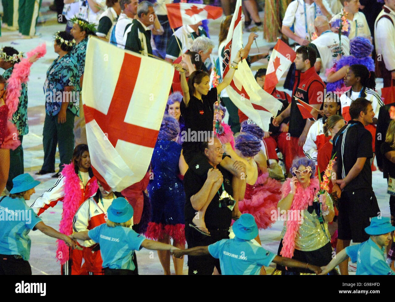
<path id="1" fill-rule="evenodd" d="M 272 93 L 278 84 L 278 80 L 295 60 L 296 53 L 282 40 L 278 39 L 267 65 L 265 85 L 263 89 Z"/>

